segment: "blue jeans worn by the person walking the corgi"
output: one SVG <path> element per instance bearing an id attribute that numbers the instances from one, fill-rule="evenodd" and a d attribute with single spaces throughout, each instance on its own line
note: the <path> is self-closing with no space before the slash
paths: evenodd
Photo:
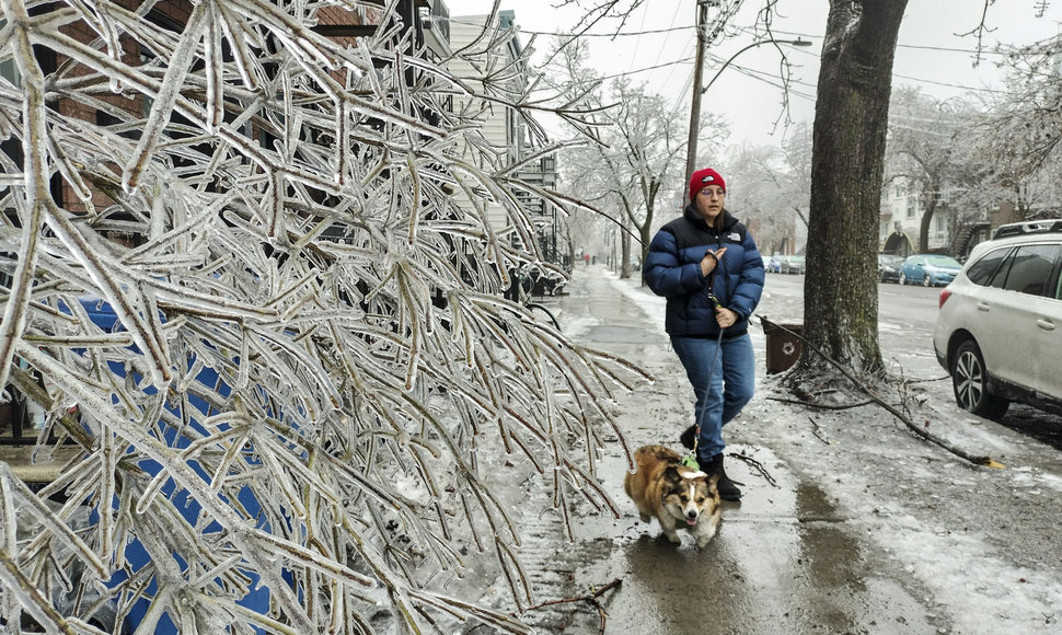
<path id="1" fill-rule="evenodd" d="M 716 355 L 716 346 L 722 350 Z M 755 354 L 748 333 L 737 337 L 672 337 L 671 347 L 685 368 L 697 402 L 694 414 L 701 423 L 697 460 L 707 461 L 723 452 L 723 426 L 736 417 L 755 390 Z M 713 368 L 713 361 L 715 368 Z M 708 385 L 711 380 L 712 385 Z"/>

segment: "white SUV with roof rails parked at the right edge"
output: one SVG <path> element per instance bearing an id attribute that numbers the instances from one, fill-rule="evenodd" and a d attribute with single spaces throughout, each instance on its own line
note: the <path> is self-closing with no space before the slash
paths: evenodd
<path id="1" fill-rule="evenodd" d="M 1062 414 L 1062 220 L 1000 227 L 940 291 L 933 333 L 955 400 L 997 419 L 1012 401 Z"/>

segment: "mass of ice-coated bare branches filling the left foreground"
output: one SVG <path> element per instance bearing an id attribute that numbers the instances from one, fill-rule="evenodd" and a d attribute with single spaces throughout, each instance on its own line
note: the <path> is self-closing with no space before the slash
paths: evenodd
<path id="1" fill-rule="evenodd" d="M 499 295 L 541 259 L 520 197 L 570 203 L 481 131 L 484 108 L 539 129 L 511 32 L 457 53 L 469 82 L 394 3 L 164 4 L 176 26 L 0 4 L 0 385 L 46 414 L 34 460 L 65 461 L 39 492 L 0 464 L 0 622 L 527 632 L 447 588 L 493 558 L 530 603 L 494 466 L 565 519 L 615 512 L 595 461 L 640 373 Z M 311 28 L 328 11 L 380 25 L 349 46 Z"/>

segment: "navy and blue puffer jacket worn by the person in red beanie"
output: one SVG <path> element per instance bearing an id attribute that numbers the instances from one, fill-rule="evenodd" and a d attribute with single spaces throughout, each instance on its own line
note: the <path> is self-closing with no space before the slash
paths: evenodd
<path id="1" fill-rule="evenodd" d="M 727 247 L 723 262 L 707 277 L 701 275 L 701 259 L 707 250 Z M 679 337 L 712 337 L 719 334 L 709 293 L 738 313 L 740 320 L 725 337 L 749 330 L 749 318 L 763 295 L 763 258 L 744 226 L 723 210 L 723 230 L 716 232 L 693 208 L 667 223 L 649 243 L 645 257 L 645 281 L 657 296 L 668 299 L 665 327 Z"/>

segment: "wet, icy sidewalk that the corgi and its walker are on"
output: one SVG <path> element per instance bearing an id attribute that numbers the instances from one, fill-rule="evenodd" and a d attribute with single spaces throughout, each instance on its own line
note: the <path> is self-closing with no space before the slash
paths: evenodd
<path id="1" fill-rule="evenodd" d="M 611 276 L 603 267 L 577 269 L 569 295 L 553 302 L 570 337 L 639 361 L 657 378 L 617 404 L 631 449 L 678 448 L 678 434 L 692 420 L 691 389 L 666 335 L 639 304 L 616 292 Z M 762 353 L 762 333 L 753 338 Z M 621 580 L 600 599 L 607 633 L 937 632 L 919 590 L 904 587 L 908 576 L 890 572 L 887 557 L 862 544 L 858 530 L 822 490 L 795 476 L 770 449 L 740 438 L 729 442 L 727 472 L 747 484 L 746 495 L 724 503 L 719 533 L 706 549 L 699 550 L 689 534 L 676 546 L 659 535 L 656 521 L 638 520 L 622 489 L 626 461 L 614 443 L 599 473 L 622 518 L 582 510 L 574 544 L 540 544 L 559 531 L 540 520 L 521 550 L 522 557 L 531 556 L 529 569 L 545 568 L 532 577 L 553 586 L 553 593 L 564 592 L 555 588 L 562 582 L 566 597 Z M 598 633 L 601 626 L 601 615 L 589 605 L 566 603 L 522 616 L 545 633 Z"/>

